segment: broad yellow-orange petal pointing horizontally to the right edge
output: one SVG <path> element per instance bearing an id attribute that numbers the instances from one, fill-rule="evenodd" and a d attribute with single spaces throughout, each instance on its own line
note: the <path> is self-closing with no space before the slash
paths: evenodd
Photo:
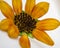
<path id="1" fill-rule="evenodd" d="M 53 18 L 48 18 L 37 22 L 36 28 L 42 30 L 53 30 L 59 26 L 59 21 Z"/>

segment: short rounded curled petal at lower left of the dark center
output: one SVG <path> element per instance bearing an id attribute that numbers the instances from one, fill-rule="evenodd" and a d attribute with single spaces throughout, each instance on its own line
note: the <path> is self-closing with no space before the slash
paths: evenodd
<path id="1" fill-rule="evenodd" d="M 8 36 L 10 38 L 17 38 L 19 35 L 19 30 L 16 26 L 12 25 L 8 30 Z"/>

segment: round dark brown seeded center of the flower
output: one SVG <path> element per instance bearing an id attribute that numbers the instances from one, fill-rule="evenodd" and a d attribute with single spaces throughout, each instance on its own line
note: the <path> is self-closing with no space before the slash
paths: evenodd
<path id="1" fill-rule="evenodd" d="M 36 21 L 29 14 L 22 12 L 14 18 L 14 24 L 20 32 L 31 32 L 36 27 Z"/>

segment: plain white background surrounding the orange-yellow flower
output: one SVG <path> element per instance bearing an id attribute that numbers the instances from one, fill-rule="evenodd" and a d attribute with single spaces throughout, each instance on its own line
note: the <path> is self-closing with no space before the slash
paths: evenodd
<path id="1" fill-rule="evenodd" d="M 11 0 L 5 0 L 11 5 Z M 55 18 L 60 21 L 60 0 L 36 0 L 36 3 L 41 1 L 47 1 L 50 3 L 49 11 L 40 20 L 45 18 Z M 23 0 L 23 6 L 25 6 L 26 0 Z M 11 5 L 12 6 L 12 5 Z M 24 7 L 23 7 L 24 9 Z M 5 17 L 0 12 L 0 21 Z M 49 36 L 55 42 L 54 46 L 48 46 L 43 44 L 36 39 L 31 39 L 31 48 L 60 48 L 60 27 L 52 31 L 46 31 Z M 0 31 L 0 48 L 21 48 L 18 39 L 11 39 L 8 37 L 7 33 Z"/>

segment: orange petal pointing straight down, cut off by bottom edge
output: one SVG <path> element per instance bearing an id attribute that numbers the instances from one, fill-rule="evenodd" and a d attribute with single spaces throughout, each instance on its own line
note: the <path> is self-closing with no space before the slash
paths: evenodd
<path id="1" fill-rule="evenodd" d="M 22 37 L 19 39 L 19 43 L 22 48 L 30 48 L 30 42 L 26 34 L 22 35 Z"/>

